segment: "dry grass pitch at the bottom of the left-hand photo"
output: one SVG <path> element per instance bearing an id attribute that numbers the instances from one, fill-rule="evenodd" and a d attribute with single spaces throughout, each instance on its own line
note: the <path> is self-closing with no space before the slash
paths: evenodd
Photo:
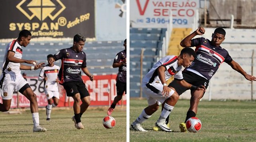
<path id="1" fill-rule="evenodd" d="M 89 107 L 82 115 L 84 129 L 77 130 L 71 120 L 71 109 L 54 109 L 51 121 L 46 121 L 45 109 L 39 110 L 40 124 L 47 132 L 33 133 L 30 110 L 22 114 L 0 112 L 1 142 L 126 142 L 126 107 L 117 106 L 112 116 L 116 120 L 113 129 L 106 129 L 102 119 L 108 107 Z"/>

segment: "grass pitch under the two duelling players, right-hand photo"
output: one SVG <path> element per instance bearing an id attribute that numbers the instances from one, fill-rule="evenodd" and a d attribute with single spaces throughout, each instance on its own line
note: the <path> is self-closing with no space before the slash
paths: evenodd
<path id="1" fill-rule="evenodd" d="M 255 142 L 256 102 L 250 101 L 201 101 L 197 117 L 202 128 L 197 133 L 180 133 L 179 124 L 184 122 L 189 100 L 179 100 L 170 116 L 173 133 L 153 131 L 160 116 L 160 108 L 143 123 L 149 132 L 130 131 L 130 142 Z M 147 106 L 147 100 L 130 100 L 130 124 Z"/>

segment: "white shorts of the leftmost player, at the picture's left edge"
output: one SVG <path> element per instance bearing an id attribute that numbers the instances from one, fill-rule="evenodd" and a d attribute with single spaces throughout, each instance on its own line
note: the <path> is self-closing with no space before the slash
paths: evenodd
<path id="1" fill-rule="evenodd" d="M 2 80 L 3 74 L 0 77 Z M 28 82 L 22 77 L 21 74 L 5 74 L 3 86 L 1 89 L 1 96 L 3 100 L 12 99 L 14 89 L 19 91 Z"/>

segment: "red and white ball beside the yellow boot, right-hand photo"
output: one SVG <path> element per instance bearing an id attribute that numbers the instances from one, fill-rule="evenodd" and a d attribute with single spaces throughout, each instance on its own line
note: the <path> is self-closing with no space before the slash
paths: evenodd
<path id="1" fill-rule="evenodd" d="M 191 117 L 186 121 L 186 127 L 188 131 L 197 133 L 201 129 L 202 123 L 199 118 Z"/>

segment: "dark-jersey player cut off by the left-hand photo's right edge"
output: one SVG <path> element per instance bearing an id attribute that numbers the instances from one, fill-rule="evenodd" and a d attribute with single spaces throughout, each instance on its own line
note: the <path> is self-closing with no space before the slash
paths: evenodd
<path id="1" fill-rule="evenodd" d="M 123 43 L 123 46 L 125 49 L 117 53 L 112 65 L 113 68 L 119 68 L 116 81 L 117 96 L 114 98 L 114 101 L 107 110 L 107 115 L 112 114 L 117 102 L 122 99 L 123 93 L 125 92 L 126 94 L 126 39 Z"/>

